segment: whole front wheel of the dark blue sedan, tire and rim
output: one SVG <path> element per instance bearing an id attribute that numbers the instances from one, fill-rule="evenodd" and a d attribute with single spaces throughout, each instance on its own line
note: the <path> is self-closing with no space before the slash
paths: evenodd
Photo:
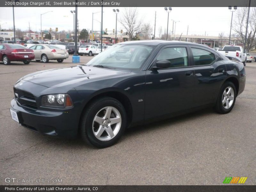
<path id="1" fill-rule="evenodd" d="M 98 148 L 114 145 L 126 128 L 123 105 L 111 97 L 95 100 L 87 107 L 80 122 L 81 137 Z"/>

